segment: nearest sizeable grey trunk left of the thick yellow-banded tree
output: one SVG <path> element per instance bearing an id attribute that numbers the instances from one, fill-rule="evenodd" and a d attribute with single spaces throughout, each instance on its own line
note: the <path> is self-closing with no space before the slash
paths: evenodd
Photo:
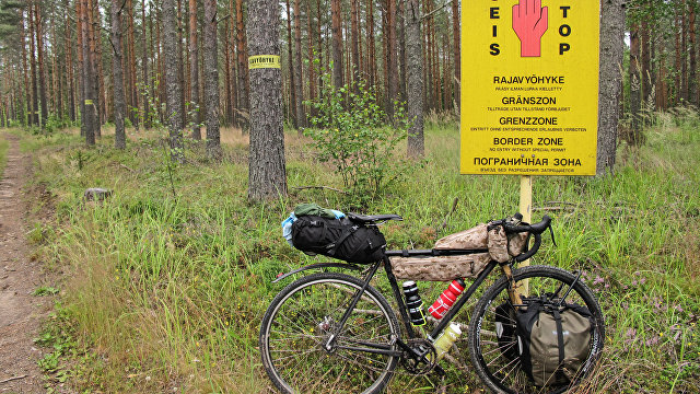
<path id="1" fill-rule="evenodd" d="M 205 0 L 205 102 L 207 105 L 207 155 L 221 159 L 219 136 L 219 43 L 217 0 Z"/>

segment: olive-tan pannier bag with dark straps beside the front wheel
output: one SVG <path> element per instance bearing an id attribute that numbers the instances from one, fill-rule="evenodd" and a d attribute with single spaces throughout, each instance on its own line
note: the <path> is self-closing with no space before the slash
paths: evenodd
<path id="1" fill-rule="evenodd" d="M 591 312 L 585 306 L 557 306 L 537 298 L 524 298 L 523 302 L 526 309 L 511 312 L 523 370 L 538 386 L 570 383 L 590 354 Z M 512 328 L 502 333 L 513 335 Z"/>

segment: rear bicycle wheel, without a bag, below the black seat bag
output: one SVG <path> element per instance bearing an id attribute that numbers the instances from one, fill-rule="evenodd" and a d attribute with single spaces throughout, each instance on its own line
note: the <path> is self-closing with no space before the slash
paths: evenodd
<path id="1" fill-rule="evenodd" d="M 338 273 L 303 277 L 275 297 L 260 325 L 265 370 L 282 393 L 378 393 L 398 357 L 323 346 L 363 281 Z M 396 350 L 400 328 L 386 299 L 372 286 L 354 308 L 336 344 L 358 340 Z"/>

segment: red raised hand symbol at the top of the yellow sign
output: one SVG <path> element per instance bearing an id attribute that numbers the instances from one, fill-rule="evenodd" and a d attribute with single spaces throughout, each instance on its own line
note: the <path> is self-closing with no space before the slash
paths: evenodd
<path id="1" fill-rule="evenodd" d="M 542 8 L 541 0 L 518 0 L 513 5 L 513 30 L 521 39 L 521 57 L 539 57 L 547 15 L 547 7 Z"/>

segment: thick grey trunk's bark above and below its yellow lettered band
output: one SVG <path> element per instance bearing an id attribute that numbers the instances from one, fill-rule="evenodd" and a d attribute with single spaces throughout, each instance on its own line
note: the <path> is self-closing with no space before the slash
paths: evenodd
<path id="1" fill-rule="evenodd" d="M 279 20 L 277 1 L 249 0 L 247 33 L 250 56 L 280 55 Z M 280 86 L 279 68 L 250 70 L 248 198 L 253 201 L 287 195 Z"/>

